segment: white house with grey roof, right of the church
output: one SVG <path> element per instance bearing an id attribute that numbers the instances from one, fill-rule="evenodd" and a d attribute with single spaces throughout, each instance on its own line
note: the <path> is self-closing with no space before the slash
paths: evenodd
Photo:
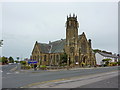
<path id="1" fill-rule="evenodd" d="M 102 60 L 103 59 L 111 59 L 110 62 L 117 62 L 118 61 L 118 57 L 116 54 L 108 54 L 108 53 L 104 53 L 104 52 L 97 52 L 95 54 L 96 56 L 96 64 L 97 65 L 102 65 L 103 62 Z"/>

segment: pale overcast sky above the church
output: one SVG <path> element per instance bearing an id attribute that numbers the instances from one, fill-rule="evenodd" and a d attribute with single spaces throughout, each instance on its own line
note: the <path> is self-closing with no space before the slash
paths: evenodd
<path id="1" fill-rule="evenodd" d="M 0 3 L 0 56 L 29 58 L 36 41 L 66 38 L 67 15 L 75 13 L 79 35 L 85 32 L 92 48 L 118 53 L 117 2 Z"/>

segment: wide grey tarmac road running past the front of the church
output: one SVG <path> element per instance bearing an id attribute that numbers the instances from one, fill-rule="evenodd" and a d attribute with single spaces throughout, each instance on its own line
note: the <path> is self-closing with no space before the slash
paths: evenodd
<path id="1" fill-rule="evenodd" d="M 44 81 L 50 81 L 50 80 L 56 80 L 62 78 L 71 78 L 77 76 L 85 76 L 85 75 L 115 71 L 118 70 L 118 67 L 63 70 L 63 71 L 30 71 L 30 72 L 19 72 L 18 70 L 11 72 L 10 74 L 5 74 L 7 72 L 4 72 L 4 70 L 2 75 L 2 87 L 19 88 L 19 87 L 28 86 L 36 82 L 44 82 Z"/>

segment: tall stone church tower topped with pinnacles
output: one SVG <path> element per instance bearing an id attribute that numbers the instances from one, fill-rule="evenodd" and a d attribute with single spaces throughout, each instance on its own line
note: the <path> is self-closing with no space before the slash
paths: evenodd
<path id="1" fill-rule="evenodd" d="M 78 42 L 78 21 L 77 16 L 73 14 L 67 16 L 66 21 L 66 53 L 69 59 L 69 65 L 75 64 L 75 56 L 77 54 L 77 42 Z"/>

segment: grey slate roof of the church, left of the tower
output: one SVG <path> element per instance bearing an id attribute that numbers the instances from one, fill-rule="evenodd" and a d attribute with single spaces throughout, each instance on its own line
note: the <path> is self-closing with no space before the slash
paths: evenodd
<path id="1" fill-rule="evenodd" d="M 61 53 L 64 52 L 65 39 L 51 42 L 49 44 L 38 43 L 42 53 Z"/>

